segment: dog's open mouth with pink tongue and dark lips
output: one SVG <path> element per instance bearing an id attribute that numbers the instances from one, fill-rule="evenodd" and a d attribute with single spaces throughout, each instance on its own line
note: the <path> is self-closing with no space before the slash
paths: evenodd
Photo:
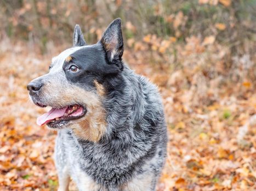
<path id="1" fill-rule="evenodd" d="M 81 105 L 71 105 L 60 109 L 52 108 L 37 118 L 37 124 L 39 126 L 47 124 L 49 127 L 56 127 L 58 124 L 64 124 L 67 121 L 77 120 L 83 117 L 86 111 L 86 108 Z"/>

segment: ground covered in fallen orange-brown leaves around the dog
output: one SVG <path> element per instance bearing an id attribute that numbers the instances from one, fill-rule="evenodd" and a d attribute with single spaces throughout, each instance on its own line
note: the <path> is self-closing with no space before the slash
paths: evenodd
<path id="1" fill-rule="evenodd" d="M 163 97 L 169 142 L 157 190 L 255 190 L 255 82 L 247 76 L 238 82 L 232 76 L 230 81 L 223 79 L 225 49 L 216 51 L 211 37 L 188 39 L 177 47 L 176 58 L 161 56 L 166 43 L 161 44 L 162 52 L 149 51 L 155 49 L 152 44 L 145 47 L 150 38 L 136 43 L 124 58 L 156 83 Z M 22 44 L 1 44 L 0 190 L 58 188 L 52 159 L 56 133 L 36 125 L 36 118 L 47 109 L 30 102 L 26 85 L 47 72 L 52 56 L 61 50 L 41 56 Z M 184 67 L 164 64 L 165 59 Z M 212 68 L 218 70 L 215 77 L 209 77 Z M 75 189 L 72 184 L 71 190 Z"/>

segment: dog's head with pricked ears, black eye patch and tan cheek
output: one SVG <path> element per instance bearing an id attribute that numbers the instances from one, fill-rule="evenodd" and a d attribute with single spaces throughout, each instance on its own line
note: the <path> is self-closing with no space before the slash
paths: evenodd
<path id="1" fill-rule="evenodd" d="M 114 20 L 94 45 L 87 45 L 76 25 L 73 47 L 52 59 L 48 74 L 27 85 L 33 103 L 52 107 L 37 124 L 69 127 L 85 139 L 99 140 L 106 128 L 104 81 L 122 72 L 122 55 L 121 19 Z"/>

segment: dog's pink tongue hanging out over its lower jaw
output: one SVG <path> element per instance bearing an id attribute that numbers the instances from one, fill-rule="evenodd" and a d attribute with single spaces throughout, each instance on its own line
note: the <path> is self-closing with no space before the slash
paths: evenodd
<path id="1" fill-rule="evenodd" d="M 53 108 L 50 111 L 48 111 L 46 114 L 43 114 L 40 117 L 38 117 L 36 123 L 38 124 L 38 126 L 42 126 L 43 124 L 55 119 L 56 117 L 64 116 L 66 110 L 67 110 L 67 106 L 61 109 Z"/>

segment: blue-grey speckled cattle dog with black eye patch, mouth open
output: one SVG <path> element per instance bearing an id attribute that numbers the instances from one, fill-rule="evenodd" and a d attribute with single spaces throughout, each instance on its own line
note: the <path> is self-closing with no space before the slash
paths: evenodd
<path id="1" fill-rule="evenodd" d="M 87 45 L 76 25 L 73 47 L 28 85 L 37 118 L 58 130 L 54 159 L 59 191 L 155 190 L 166 160 L 167 127 L 157 87 L 122 61 L 121 19 Z"/>

